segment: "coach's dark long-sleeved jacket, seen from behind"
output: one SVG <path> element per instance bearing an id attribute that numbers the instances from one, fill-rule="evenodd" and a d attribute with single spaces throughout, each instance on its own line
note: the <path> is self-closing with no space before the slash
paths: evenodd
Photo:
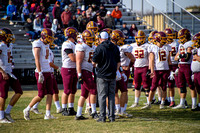
<path id="1" fill-rule="evenodd" d="M 117 63 L 120 62 L 119 48 L 109 40 L 102 42 L 94 51 L 92 58 L 97 63 L 97 77 L 115 79 Z"/>

